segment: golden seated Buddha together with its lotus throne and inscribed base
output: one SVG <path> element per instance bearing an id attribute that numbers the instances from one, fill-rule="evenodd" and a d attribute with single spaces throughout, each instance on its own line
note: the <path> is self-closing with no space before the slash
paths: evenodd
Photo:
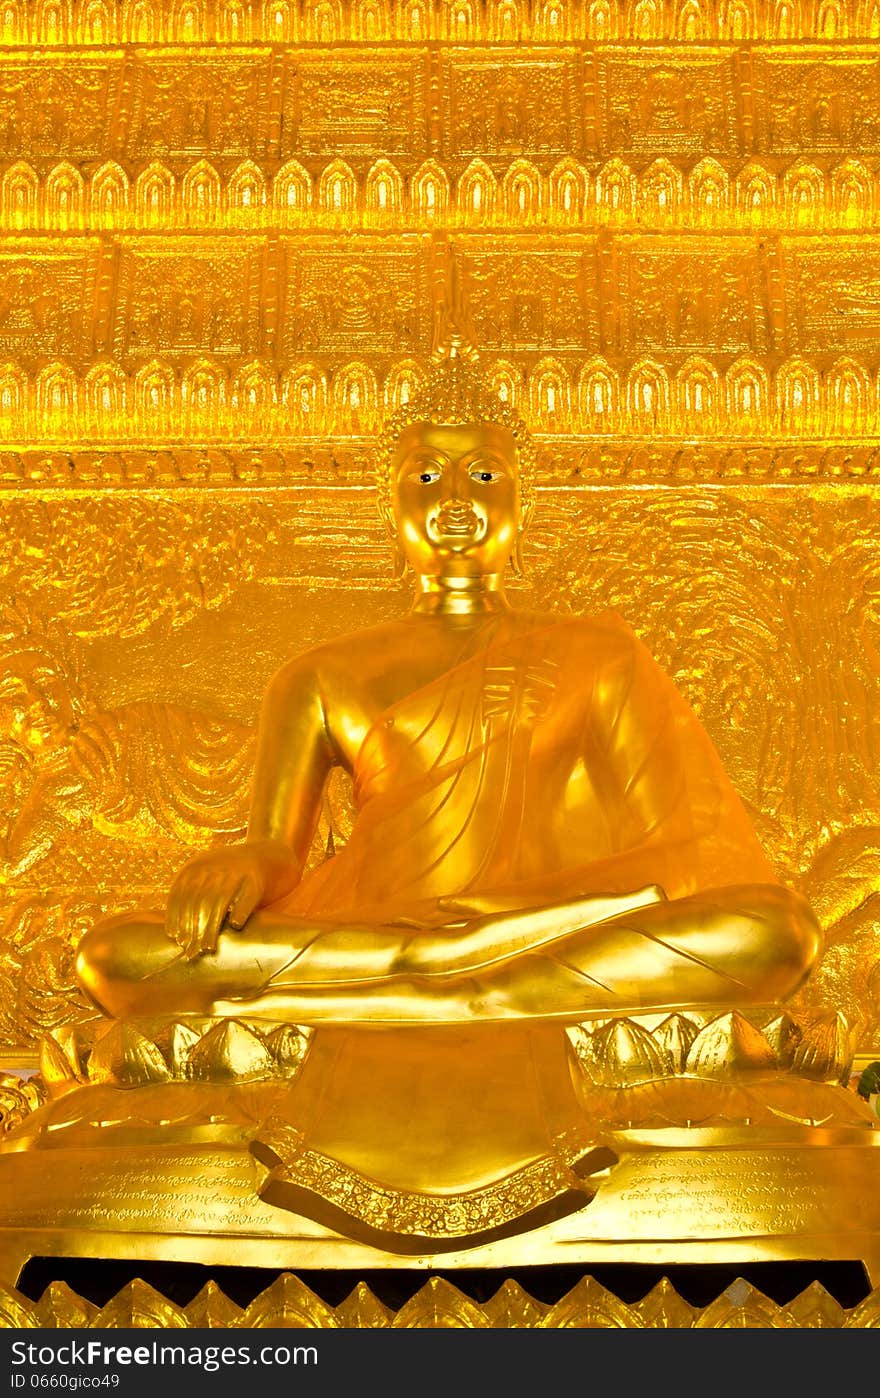
<path id="1" fill-rule="evenodd" d="M 101 1015 L 48 1037 L 49 1100 L 0 1146 L 0 1267 L 880 1275 L 845 1025 L 781 1011 L 816 918 L 627 624 L 511 605 L 533 447 L 441 329 L 379 471 L 413 605 L 281 668 L 246 842 L 83 938 Z M 334 768 L 351 836 L 304 874 Z"/>

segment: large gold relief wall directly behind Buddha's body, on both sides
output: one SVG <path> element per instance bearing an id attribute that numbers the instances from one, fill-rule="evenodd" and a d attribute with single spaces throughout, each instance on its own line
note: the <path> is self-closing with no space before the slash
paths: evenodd
<path id="1" fill-rule="evenodd" d="M 243 826 L 291 653 L 406 605 L 367 484 L 7 492 L 1 1035 L 77 1011 L 71 944 Z M 645 561 L 651 559 L 651 568 Z M 869 485 L 544 487 L 522 601 L 614 607 L 715 738 L 830 945 L 809 994 L 880 1016 L 880 498 Z M 255 624 L 259 618 L 259 626 Z M 346 837 L 334 786 L 316 837 Z M 73 998 L 71 998 L 73 997 Z"/>

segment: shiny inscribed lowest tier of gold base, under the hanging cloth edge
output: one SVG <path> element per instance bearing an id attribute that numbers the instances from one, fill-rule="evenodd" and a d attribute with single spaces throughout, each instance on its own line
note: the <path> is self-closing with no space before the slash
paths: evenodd
<path id="1" fill-rule="evenodd" d="M 372 1248 L 263 1204 L 256 1194 L 259 1167 L 245 1151 L 133 1148 L 116 1163 L 105 1160 L 104 1169 L 87 1151 L 64 1151 L 46 1169 L 21 1156 L 3 1160 L 0 1172 L 4 1197 L 15 1198 L 3 1209 L 0 1276 L 15 1285 L 32 1257 L 290 1271 L 860 1261 L 872 1285 L 880 1285 L 877 1158 L 863 1146 L 764 1139 L 714 1149 L 700 1139 L 690 1148 L 662 1148 L 646 1138 L 627 1145 L 631 1153 L 617 1177 L 583 1213 L 516 1239 L 423 1255 Z M 793 1180 L 788 1188 L 786 1172 Z M 122 1216 L 112 1208 L 119 1173 L 139 1198 Z M 772 1186 L 747 1183 L 764 1173 L 774 1176 Z M 59 1179 L 66 1180 L 63 1199 Z M 743 1188 L 750 1191 L 747 1211 Z"/>

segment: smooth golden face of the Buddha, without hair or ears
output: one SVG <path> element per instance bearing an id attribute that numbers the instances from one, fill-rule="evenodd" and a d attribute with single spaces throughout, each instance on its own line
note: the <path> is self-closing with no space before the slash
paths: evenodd
<path id="1" fill-rule="evenodd" d="M 501 573 L 522 528 L 516 443 L 492 424 L 417 422 L 397 439 L 392 496 L 400 548 L 416 573 Z"/>

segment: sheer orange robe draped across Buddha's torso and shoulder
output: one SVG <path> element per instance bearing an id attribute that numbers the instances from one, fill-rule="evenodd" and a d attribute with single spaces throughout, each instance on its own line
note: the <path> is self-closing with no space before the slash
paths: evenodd
<path id="1" fill-rule="evenodd" d="M 354 797 L 350 842 L 285 910 L 430 924 L 473 895 L 775 882 L 705 730 L 614 612 L 495 632 L 388 707 Z"/>

